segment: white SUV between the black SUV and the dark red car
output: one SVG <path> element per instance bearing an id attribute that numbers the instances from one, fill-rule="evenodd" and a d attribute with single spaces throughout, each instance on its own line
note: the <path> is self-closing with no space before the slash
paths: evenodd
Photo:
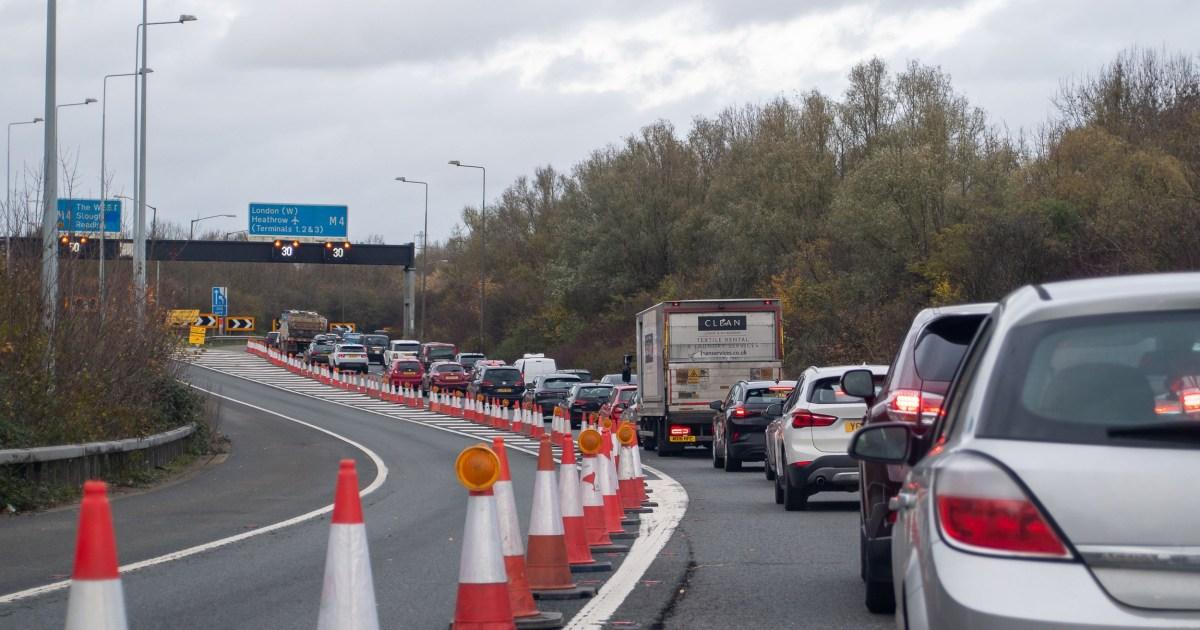
<path id="1" fill-rule="evenodd" d="M 858 490 L 858 462 L 846 455 L 850 438 L 863 426 L 866 403 L 841 391 L 841 374 L 870 370 L 876 389 L 883 365 L 810 367 L 781 403 L 768 408 L 778 416 L 767 426 L 767 479 L 775 481 L 775 503 L 788 511 L 808 508 L 817 492 Z"/>

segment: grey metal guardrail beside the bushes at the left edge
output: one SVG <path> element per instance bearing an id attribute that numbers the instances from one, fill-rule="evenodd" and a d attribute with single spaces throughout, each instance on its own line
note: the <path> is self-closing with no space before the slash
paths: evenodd
<path id="1" fill-rule="evenodd" d="M 145 438 L 5 449 L 0 467 L 28 481 L 79 485 L 113 472 L 166 466 L 184 452 L 184 440 L 194 432 L 196 425 L 186 425 Z"/>

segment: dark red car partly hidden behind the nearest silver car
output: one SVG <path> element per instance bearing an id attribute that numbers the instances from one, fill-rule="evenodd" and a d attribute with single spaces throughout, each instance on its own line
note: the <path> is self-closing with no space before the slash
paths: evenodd
<path id="1" fill-rule="evenodd" d="M 900 349 L 892 360 L 883 389 L 876 395 L 871 379 L 841 377 L 842 390 L 866 401 L 864 422 L 911 422 L 918 432 L 928 431 L 942 413 L 942 401 L 950 389 L 967 346 L 995 304 L 967 304 L 925 308 L 917 313 Z M 862 391 L 854 385 L 862 384 Z M 850 389 L 847 389 L 850 388 Z M 854 391 L 852 391 L 854 390 Z M 892 590 L 892 524 L 896 512 L 888 502 L 900 492 L 906 467 L 858 463 L 859 474 L 859 560 L 866 582 L 866 607 L 871 612 L 895 610 Z"/>

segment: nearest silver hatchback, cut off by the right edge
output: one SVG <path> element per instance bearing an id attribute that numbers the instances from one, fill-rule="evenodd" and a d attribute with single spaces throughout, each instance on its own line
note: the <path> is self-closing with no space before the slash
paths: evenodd
<path id="1" fill-rule="evenodd" d="M 898 625 L 1200 628 L 1200 274 L 1016 290 L 944 409 L 925 437 L 851 445 L 913 464 L 890 504 Z"/>

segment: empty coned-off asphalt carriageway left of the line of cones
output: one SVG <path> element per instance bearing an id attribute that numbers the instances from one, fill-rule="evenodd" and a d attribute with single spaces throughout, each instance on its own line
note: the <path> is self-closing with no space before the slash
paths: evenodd
<path id="1" fill-rule="evenodd" d="M 455 480 L 455 455 L 474 440 L 348 409 L 264 385 L 188 368 L 187 377 L 199 386 L 308 421 L 347 436 L 374 450 L 389 467 L 388 481 L 364 500 L 371 546 L 372 569 L 385 628 L 445 628 L 454 613 L 461 534 L 466 514 L 466 491 Z M 232 403 L 226 403 L 226 408 Z M 230 415 L 227 424 L 238 424 Z M 257 426 L 254 426 L 257 424 Z M 254 427 L 256 437 L 242 433 L 245 446 L 235 446 L 223 464 L 197 474 L 194 479 L 154 493 L 116 500 L 120 560 L 124 563 L 169 551 L 175 546 L 204 542 L 226 530 L 250 524 L 268 524 L 271 518 L 299 515 L 328 504 L 332 496 L 336 460 L 358 452 L 360 481 L 374 476 L 370 461 L 356 449 L 332 442 L 319 432 L 296 432 L 296 425 L 264 414 L 250 414 L 244 427 Z M 254 433 L 254 432 L 252 432 Z M 251 444 L 274 444 L 281 458 L 251 466 L 248 457 L 259 452 Z M 236 443 L 235 443 L 236 444 Z M 316 454 L 316 455 L 314 455 Z M 245 461 L 246 468 L 236 468 Z M 517 510 L 528 521 L 535 460 L 510 456 Z M 257 467 L 257 468 L 256 468 Z M 256 469 L 277 468 L 272 481 L 259 482 Z M 184 485 L 186 493 L 176 492 Z M 250 491 L 227 491 L 229 486 L 251 485 Z M 202 500 L 216 493 L 203 512 L 186 511 L 180 517 L 168 510 L 190 498 Z M 175 494 L 180 494 L 175 497 Z M 168 499 L 169 497 L 169 499 Z M 138 510 L 133 510 L 134 504 Z M 128 508 L 126 508 L 128 505 Z M 290 509 L 288 509 L 290 508 Z M 161 517 L 157 524 L 132 524 L 136 516 Z M 4 578 L 18 588 L 40 577 L 70 572 L 73 547 L 73 514 L 37 515 L 59 524 L 59 532 L 0 529 L 0 548 L 28 547 L 16 578 L 8 577 L 12 563 L 5 559 Z M 205 529 L 211 523 L 214 529 Z M 222 529 L 216 532 L 215 529 Z M 18 532 L 19 529 L 19 532 Z M 323 516 L 277 532 L 251 538 L 181 560 L 142 569 L 124 576 L 131 628 L 308 628 L 316 623 L 329 535 L 329 517 Z M 164 539 L 164 536 L 167 536 Z M 32 539 L 29 539 L 32 540 Z M 7 592 L 7 590 L 6 590 Z M 65 618 L 67 592 L 0 605 L 2 628 L 54 628 Z M 582 602 L 544 605 L 570 618 Z"/>

